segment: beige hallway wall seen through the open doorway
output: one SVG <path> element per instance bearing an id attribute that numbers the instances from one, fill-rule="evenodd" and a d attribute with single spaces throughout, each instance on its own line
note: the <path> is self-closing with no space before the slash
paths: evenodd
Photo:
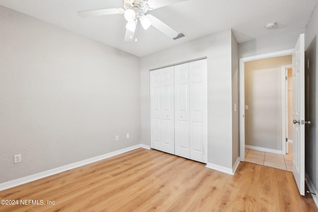
<path id="1" fill-rule="evenodd" d="M 292 56 L 244 64 L 245 145 L 282 150 L 281 66 Z"/>

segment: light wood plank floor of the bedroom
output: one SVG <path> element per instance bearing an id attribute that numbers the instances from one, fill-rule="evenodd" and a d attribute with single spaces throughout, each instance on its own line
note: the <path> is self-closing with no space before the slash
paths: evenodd
<path id="1" fill-rule="evenodd" d="M 136 149 L 0 192 L 2 200 L 55 205 L 12 211 L 317 212 L 288 171 L 241 162 L 234 176 L 157 150 Z"/>

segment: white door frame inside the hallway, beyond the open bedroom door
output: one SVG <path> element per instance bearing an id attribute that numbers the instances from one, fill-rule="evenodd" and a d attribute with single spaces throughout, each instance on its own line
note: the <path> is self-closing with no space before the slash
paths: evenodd
<path id="1" fill-rule="evenodd" d="M 288 97 L 287 87 L 286 87 L 286 73 L 288 69 L 292 69 L 293 64 L 283 65 L 282 66 L 282 154 L 286 155 L 286 135 L 288 133 L 288 126 L 287 126 L 287 118 L 288 118 L 288 110 L 286 110 L 286 98 Z M 288 140 L 287 140 L 288 142 Z"/>

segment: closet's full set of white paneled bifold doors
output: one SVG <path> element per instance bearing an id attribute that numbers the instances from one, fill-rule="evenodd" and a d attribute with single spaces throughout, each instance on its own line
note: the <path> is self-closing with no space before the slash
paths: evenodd
<path id="1" fill-rule="evenodd" d="M 150 71 L 151 148 L 207 162 L 207 60 Z"/>

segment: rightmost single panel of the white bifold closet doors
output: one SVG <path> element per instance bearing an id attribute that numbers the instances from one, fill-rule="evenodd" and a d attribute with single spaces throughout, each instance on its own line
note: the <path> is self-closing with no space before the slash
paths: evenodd
<path id="1" fill-rule="evenodd" d="M 190 159 L 208 161 L 207 60 L 189 63 Z"/>

